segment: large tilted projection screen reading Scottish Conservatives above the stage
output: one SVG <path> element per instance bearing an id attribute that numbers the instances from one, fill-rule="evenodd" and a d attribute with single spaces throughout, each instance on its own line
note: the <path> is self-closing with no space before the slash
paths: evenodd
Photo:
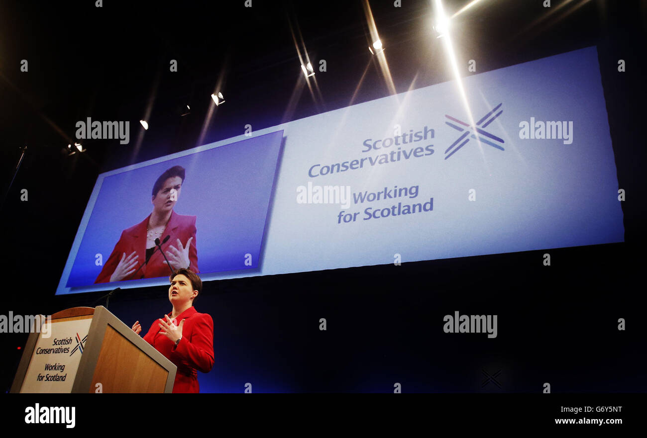
<path id="1" fill-rule="evenodd" d="M 159 251 L 107 280 L 111 255 L 146 258 L 151 191 L 177 165 L 166 245 L 192 236 L 203 280 L 624 241 L 595 47 L 462 84 L 100 174 L 56 293 L 168 284 Z"/>

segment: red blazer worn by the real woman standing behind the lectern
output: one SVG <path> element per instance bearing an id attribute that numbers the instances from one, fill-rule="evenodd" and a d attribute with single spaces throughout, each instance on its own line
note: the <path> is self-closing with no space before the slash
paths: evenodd
<path id="1" fill-rule="evenodd" d="M 171 317 L 171 313 L 168 317 Z M 200 392 L 200 386 L 196 370 L 208 373 L 214 366 L 214 320 L 207 313 L 197 313 L 194 307 L 183 311 L 175 319 L 176 325 L 182 319 L 182 339 L 177 348 L 165 335 L 159 334 L 161 329 L 158 320 L 153 321 L 144 340 L 177 366 L 173 392 L 197 393 Z"/>

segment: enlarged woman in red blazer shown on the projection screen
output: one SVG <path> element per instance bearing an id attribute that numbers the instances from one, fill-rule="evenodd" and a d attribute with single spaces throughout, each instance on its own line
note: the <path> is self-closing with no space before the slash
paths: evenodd
<path id="1" fill-rule="evenodd" d="M 171 271 L 155 245 L 155 239 L 159 239 L 160 243 L 166 240 L 161 246 L 173 269 L 190 268 L 193 272 L 199 272 L 195 216 L 184 216 L 173 211 L 180 198 L 183 182 L 182 166 L 173 166 L 157 178 L 151 193 L 153 212 L 139 224 L 122 232 L 95 283 L 168 276 Z"/>

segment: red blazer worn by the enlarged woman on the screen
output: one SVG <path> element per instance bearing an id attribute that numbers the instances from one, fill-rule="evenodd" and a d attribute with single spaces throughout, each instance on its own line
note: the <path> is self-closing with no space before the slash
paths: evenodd
<path id="1" fill-rule="evenodd" d="M 122 235 L 119 238 L 119 241 L 115 245 L 112 254 L 109 256 L 108 260 L 105 262 L 103 269 L 94 280 L 95 283 L 107 283 L 110 281 L 110 276 L 113 275 L 119 261 L 122 258 L 122 255 L 126 253 L 126 257 L 131 255 L 133 251 L 137 251 L 138 264 L 135 269 L 142 266 L 146 262 L 146 231 L 148 228 L 148 220 L 150 214 L 146 219 L 144 219 L 139 224 L 125 229 L 122 231 Z M 164 240 L 166 235 L 171 237 L 162 245 L 164 252 L 168 251 L 168 247 L 173 245 L 177 248 L 177 239 L 180 239 L 182 245 L 186 245 L 190 237 L 193 237 L 191 241 L 191 247 L 189 248 L 189 261 L 191 262 L 189 269 L 195 273 L 199 273 L 198 269 L 198 251 L 195 246 L 195 216 L 184 216 L 182 214 L 177 214 L 175 211 L 171 212 L 171 218 L 166 224 L 164 233 L 160 240 Z M 177 248 L 179 249 L 179 248 Z M 131 275 L 124 278 L 125 280 L 138 280 L 140 278 L 155 278 L 159 276 L 169 276 L 171 273 L 170 269 L 166 262 L 164 262 L 164 256 L 160 253 L 159 249 L 155 251 L 155 254 L 151 257 L 151 260 L 148 260 L 148 264 L 137 273 L 132 273 Z"/>

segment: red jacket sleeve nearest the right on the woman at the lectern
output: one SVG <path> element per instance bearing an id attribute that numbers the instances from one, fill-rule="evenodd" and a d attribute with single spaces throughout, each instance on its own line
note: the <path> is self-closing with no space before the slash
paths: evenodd
<path id="1" fill-rule="evenodd" d="M 191 339 L 182 336 L 173 352 L 186 360 L 192 368 L 208 373 L 214 366 L 214 320 L 203 313 L 193 326 Z"/>

